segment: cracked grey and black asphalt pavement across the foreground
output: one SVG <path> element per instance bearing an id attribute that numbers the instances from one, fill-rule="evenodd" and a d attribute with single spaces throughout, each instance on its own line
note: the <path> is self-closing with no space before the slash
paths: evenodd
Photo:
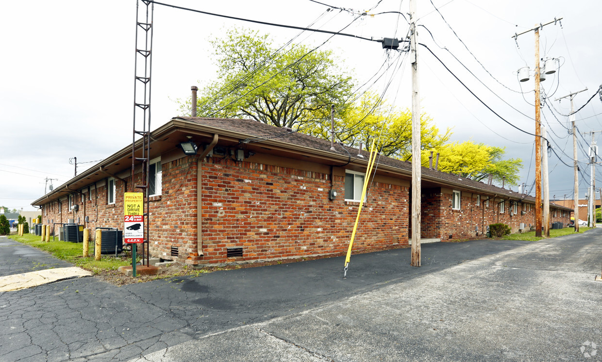
<path id="1" fill-rule="evenodd" d="M 598 361 L 602 229 L 0 293 L 0 361 Z M 0 276 L 70 266 L 0 238 Z"/>

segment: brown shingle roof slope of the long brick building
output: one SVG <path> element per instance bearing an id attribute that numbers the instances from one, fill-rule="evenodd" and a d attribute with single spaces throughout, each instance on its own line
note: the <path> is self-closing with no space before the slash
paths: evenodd
<path id="1" fill-rule="evenodd" d="M 189 121 L 191 123 L 201 124 L 209 127 L 215 127 L 218 129 L 230 130 L 233 132 L 242 133 L 248 135 L 243 143 L 255 143 L 266 140 L 278 140 L 283 143 L 294 144 L 296 146 L 308 147 L 310 149 L 320 150 L 324 152 L 332 152 L 330 150 L 330 141 L 315 138 L 305 133 L 294 132 L 286 130 L 280 127 L 275 127 L 270 124 L 261 123 L 255 120 L 244 120 L 244 119 L 231 119 L 231 118 L 203 118 L 203 117 L 178 117 L 182 120 Z M 338 155 L 350 156 L 354 158 L 354 155 L 358 155 L 359 150 L 352 147 L 344 147 L 341 145 L 335 146 L 335 152 Z M 369 153 L 362 151 L 364 159 L 367 160 Z M 379 156 L 377 159 L 379 165 L 386 165 L 389 167 L 403 170 L 406 173 L 411 173 L 412 164 L 411 162 L 401 161 L 399 159 L 389 158 L 386 156 Z M 500 197 L 506 196 L 512 199 L 520 199 L 535 203 L 535 197 L 529 195 L 521 195 L 517 191 L 511 191 L 506 188 L 500 188 L 494 185 L 488 185 L 483 182 L 466 179 L 465 177 L 458 176 L 456 174 L 444 173 L 438 170 L 431 170 L 427 167 L 421 169 L 422 177 L 424 179 L 432 180 L 433 182 L 440 182 L 443 185 L 462 185 L 471 189 L 478 189 L 488 194 L 497 194 Z M 562 205 L 553 204 L 556 207 L 569 210 L 568 207 Z"/>

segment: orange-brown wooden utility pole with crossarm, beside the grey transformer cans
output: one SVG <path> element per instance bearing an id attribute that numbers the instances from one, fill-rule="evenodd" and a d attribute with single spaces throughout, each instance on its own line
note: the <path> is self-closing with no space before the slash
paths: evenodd
<path id="1" fill-rule="evenodd" d="M 517 40 L 518 35 L 526 34 L 530 31 L 535 31 L 535 236 L 541 237 L 542 227 L 542 203 L 541 203 L 541 122 L 540 122 L 540 99 L 539 99 L 539 29 L 545 25 L 556 23 L 560 19 L 547 22 L 545 24 L 535 24 L 535 28 L 523 31 L 520 34 L 514 34 L 514 40 Z M 547 201 L 550 202 L 549 200 Z"/>

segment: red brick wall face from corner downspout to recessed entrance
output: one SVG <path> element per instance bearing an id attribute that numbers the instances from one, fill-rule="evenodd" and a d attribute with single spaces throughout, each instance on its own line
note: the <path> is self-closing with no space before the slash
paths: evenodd
<path id="1" fill-rule="evenodd" d="M 344 177 L 253 162 L 209 159 L 203 164 L 203 249 L 200 263 L 270 260 L 347 250 L 358 203 L 344 201 Z M 408 189 L 374 182 L 353 249 L 408 242 Z"/>

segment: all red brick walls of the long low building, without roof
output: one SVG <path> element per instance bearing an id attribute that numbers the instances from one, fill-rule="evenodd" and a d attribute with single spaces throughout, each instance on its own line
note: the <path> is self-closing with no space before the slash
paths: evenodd
<path id="1" fill-rule="evenodd" d="M 291 164 L 293 165 L 293 164 Z M 305 167 L 324 170 L 323 165 Z M 344 201 L 344 170 L 334 173 L 334 188 L 338 196 L 328 199 L 330 173 L 298 170 L 292 167 L 268 165 L 266 162 L 237 162 L 228 158 L 208 158 L 202 168 L 203 253 L 197 256 L 197 159 L 186 157 L 162 165 L 162 194 L 151 198 L 151 256 L 176 259 L 190 264 L 215 264 L 258 260 L 274 260 L 312 255 L 343 253 L 347 250 L 358 203 Z M 141 174 L 136 174 L 137 184 Z M 409 189 L 393 185 L 396 180 L 377 178 L 371 183 L 367 202 L 356 233 L 354 251 L 408 243 Z M 384 181 L 383 181 L 384 180 Z M 131 191 L 131 180 L 128 190 Z M 94 237 L 95 227 L 123 229 L 124 183 L 116 180 L 116 203 L 107 204 L 107 186 L 92 188 L 92 200 L 85 200 L 87 227 Z M 498 212 L 493 198 L 486 206 L 482 195 L 476 205 L 476 195 L 461 193 L 461 210 L 452 210 L 450 189 L 423 189 L 422 238 L 467 239 L 481 235 L 494 222 L 509 224 L 518 232 L 518 224 L 535 223 L 535 209 L 510 217 L 510 203 L 504 213 Z M 49 207 L 44 221 L 67 222 L 84 220 L 81 197 L 77 212 L 67 210 L 67 201 Z M 553 210 L 551 212 L 553 216 Z M 568 222 L 562 212 L 551 221 Z M 485 228 L 484 228 L 484 227 Z M 172 257 L 172 247 L 178 256 Z M 228 258 L 228 248 L 243 248 L 243 257 Z"/>

